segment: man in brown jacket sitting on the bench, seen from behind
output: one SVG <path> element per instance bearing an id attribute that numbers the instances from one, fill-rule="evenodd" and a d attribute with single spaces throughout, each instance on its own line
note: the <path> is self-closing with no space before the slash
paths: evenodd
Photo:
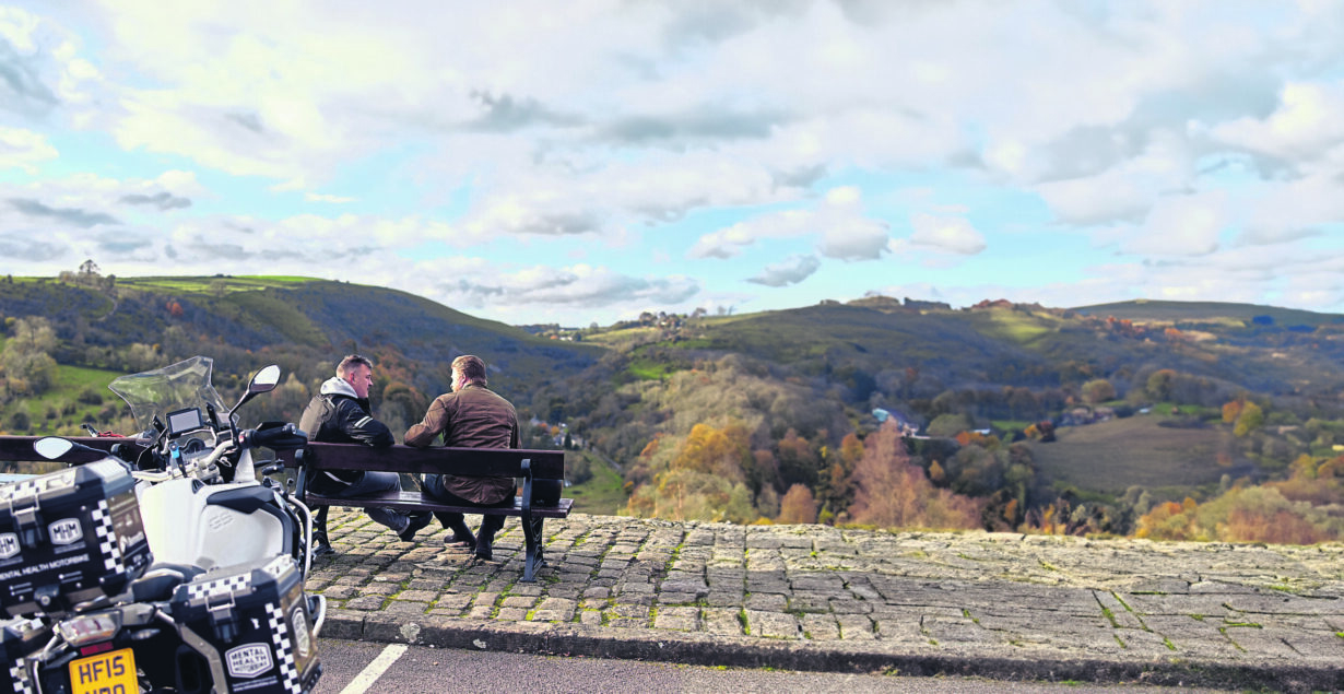
<path id="1" fill-rule="evenodd" d="M 472 355 L 453 359 L 453 391 L 434 398 L 425 420 L 406 432 L 406 445 L 423 448 L 442 433 L 448 447 L 517 448 L 517 412 L 485 385 L 485 362 Z M 425 494 L 454 504 L 512 506 L 515 491 L 513 477 L 456 477 L 450 471 L 425 475 Z M 482 516 L 476 538 L 462 514 L 434 516 L 453 531 L 448 542 L 474 545 L 476 557 L 493 558 L 495 533 L 504 527 L 504 516 Z"/>

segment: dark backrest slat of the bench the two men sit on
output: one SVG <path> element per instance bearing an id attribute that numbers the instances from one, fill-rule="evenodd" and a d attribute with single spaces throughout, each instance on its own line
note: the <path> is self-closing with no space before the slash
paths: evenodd
<path id="1" fill-rule="evenodd" d="M 520 461 L 532 461 L 532 477 L 539 480 L 564 479 L 563 451 L 482 449 L 482 448 L 413 448 L 396 444 L 388 448 L 370 448 L 360 444 L 308 444 L 308 461 L 317 469 L 378 469 L 409 475 L 460 473 L 466 476 L 521 476 Z M 293 452 L 280 452 L 280 457 L 293 464 Z"/>

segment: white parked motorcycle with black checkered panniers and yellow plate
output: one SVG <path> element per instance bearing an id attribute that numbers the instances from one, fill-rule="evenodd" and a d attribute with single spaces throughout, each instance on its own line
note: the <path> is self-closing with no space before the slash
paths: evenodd
<path id="1" fill-rule="evenodd" d="M 125 456 L 133 460 L 108 456 L 19 483 L 31 495 L 0 487 L 17 530 L 0 534 L 0 607 L 15 617 L 0 623 L 0 643 L 16 683 L 70 694 L 316 686 L 325 601 L 302 589 L 312 515 L 269 476 L 281 465 L 265 465 L 258 481 L 253 460 L 258 448 L 301 448 L 306 437 L 292 424 L 238 429 L 237 410 L 276 387 L 278 367 L 258 371 L 231 409 L 211 369 L 196 356 L 113 381 L 144 426 L 138 455 Z M 34 448 L 59 460 L 87 447 L 48 437 Z M 54 499 L 71 518 L 50 520 L 62 515 Z M 0 508 L 0 527 L 4 516 Z M 97 539 L 101 554 L 77 555 L 77 537 Z M 4 572 L 11 557 L 22 565 Z"/>

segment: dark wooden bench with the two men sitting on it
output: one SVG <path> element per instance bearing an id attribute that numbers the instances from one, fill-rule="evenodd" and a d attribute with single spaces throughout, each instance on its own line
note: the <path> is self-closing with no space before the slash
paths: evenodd
<path id="1" fill-rule="evenodd" d="M 297 455 L 296 455 L 297 453 Z M 454 506 L 429 496 L 421 491 L 401 491 L 358 498 L 325 496 L 305 487 L 305 476 L 300 475 L 297 494 L 308 506 L 349 506 L 383 507 L 396 511 L 422 512 L 446 511 L 458 514 L 482 514 L 517 516 L 523 522 L 523 538 L 527 542 L 527 561 L 523 566 L 523 581 L 536 580 L 536 572 L 544 565 L 542 558 L 542 523 L 547 518 L 566 518 L 574 499 L 559 499 L 564 484 L 564 452 L 532 451 L 516 448 L 411 448 L 394 445 L 390 448 L 370 448 L 359 444 L 309 442 L 302 452 L 280 452 L 286 465 L 305 465 L 314 472 L 324 469 L 380 471 L 409 475 L 452 473 L 460 477 L 521 477 L 523 494 L 513 499 L 512 506 Z M 538 503 L 543 498 L 538 488 L 554 491 L 556 503 Z"/>

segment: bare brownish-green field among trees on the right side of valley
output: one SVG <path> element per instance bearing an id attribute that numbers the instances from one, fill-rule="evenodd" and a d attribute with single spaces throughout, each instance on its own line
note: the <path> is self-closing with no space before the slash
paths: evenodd
<path id="1" fill-rule="evenodd" d="M 1042 472 L 1059 484 L 1113 495 L 1133 484 L 1161 496 L 1198 494 L 1226 473 L 1249 473 L 1251 464 L 1232 459 L 1219 464 L 1219 453 L 1235 455 L 1226 428 L 1173 429 L 1159 426 L 1157 416 L 1134 416 L 1087 426 L 1064 426 L 1058 441 L 1032 447 Z"/>

